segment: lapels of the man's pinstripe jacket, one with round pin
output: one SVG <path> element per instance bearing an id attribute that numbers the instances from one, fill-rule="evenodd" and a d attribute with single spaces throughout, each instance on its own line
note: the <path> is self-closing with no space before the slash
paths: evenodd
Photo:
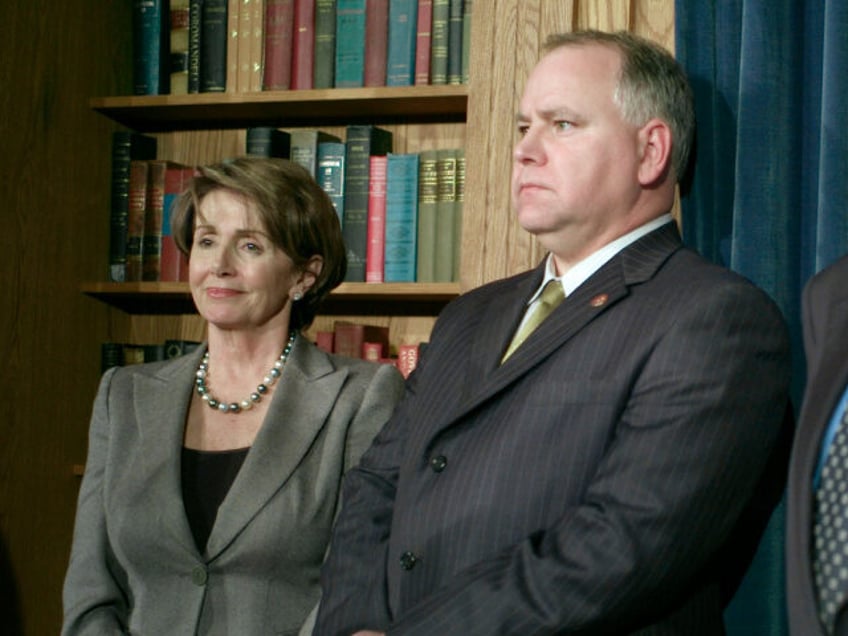
<path id="1" fill-rule="evenodd" d="M 517 309 L 503 312 L 505 315 L 501 319 L 483 321 L 487 326 L 480 330 L 473 347 L 481 352 L 479 359 L 485 361 L 485 368 L 478 369 L 482 372 L 475 377 L 484 380 L 467 397 L 452 420 L 491 398 L 551 356 L 586 325 L 625 298 L 631 285 L 653 277 L 680 246 L 677 228 L 669 223 L 626 247 L 569 294 L 503 365 L 500 364 L 503 350 L 515 331 L 527 300 L 542 280 L 544 263 L 532 276 L 517 282 L 510 297 L 492 298 L 492 315 L 498 315 L 497 305 L 504 303 Z M 495 347 L 493 343 L 499 346 Z"/>

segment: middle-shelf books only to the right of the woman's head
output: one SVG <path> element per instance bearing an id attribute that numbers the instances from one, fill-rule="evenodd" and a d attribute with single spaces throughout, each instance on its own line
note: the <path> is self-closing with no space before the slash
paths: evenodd
<path id="1" fill-rule="evenodd" d="M 247 130 L 247 152 L 305 166 L 339 215 L 348 282 L 459 280 L 465 152 L 392 153 L 392 133 L 349 125 L 323 131 Z"/>

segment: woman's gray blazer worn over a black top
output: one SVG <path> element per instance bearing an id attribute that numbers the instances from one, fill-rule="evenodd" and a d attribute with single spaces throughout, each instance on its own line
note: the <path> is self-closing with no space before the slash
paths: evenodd
<path id="1" fill-rule="evenodd" d="M 294 634 L 318 601 L 342 475 L 388 419 L 403 379 L 298 337 L 201 554 L 180 452 L 204 349 L 103 376 L 63 634 Z"/>

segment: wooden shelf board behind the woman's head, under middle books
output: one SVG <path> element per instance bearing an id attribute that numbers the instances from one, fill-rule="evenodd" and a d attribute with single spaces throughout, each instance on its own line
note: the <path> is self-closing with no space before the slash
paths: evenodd
<path id="1" fill-rule="evenodd" d="M 84 283 L 81 290 L 129 314 L 195 313 L 187 283 Z M 459 283 L 342 283 L 320 313 L 435 316 L 459 293 Z"/>

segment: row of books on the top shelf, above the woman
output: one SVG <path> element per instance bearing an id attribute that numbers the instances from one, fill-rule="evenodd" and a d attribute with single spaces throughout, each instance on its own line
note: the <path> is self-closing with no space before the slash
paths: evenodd
<path id="1" fill-rule="evenodd" d="M 468 82 L 472 0 L 133 0 L 133 93 Z"/>

